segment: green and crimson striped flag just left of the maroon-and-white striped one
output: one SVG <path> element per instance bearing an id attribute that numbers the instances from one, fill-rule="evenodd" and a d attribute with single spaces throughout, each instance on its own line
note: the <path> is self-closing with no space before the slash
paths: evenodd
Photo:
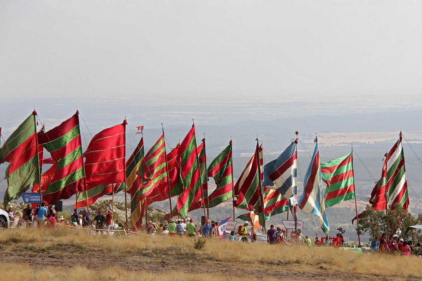
<path id="1" fill-rule="evenodd" d="M 233 152 L 232 141 L 211 162 L 208 177 L 214 177 L 217 188 L 208 196 L 208 207 L 212 208 L 233 198 Z"/>

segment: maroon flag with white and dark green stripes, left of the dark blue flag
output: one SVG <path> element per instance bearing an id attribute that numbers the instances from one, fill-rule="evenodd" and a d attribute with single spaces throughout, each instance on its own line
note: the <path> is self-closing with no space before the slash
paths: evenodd
<path id="1" fill-rule="evenodd" d="M 241 176 L 235 184 L 234 190 L 236 200 L 233 205 L 240 209 L 248 211 L 260 212 L 261 194 L 260 194 L 260 172 L 259 172 L 259 147 L 257 144 L 256 150 L 252 158 L 247 163 Z"/>

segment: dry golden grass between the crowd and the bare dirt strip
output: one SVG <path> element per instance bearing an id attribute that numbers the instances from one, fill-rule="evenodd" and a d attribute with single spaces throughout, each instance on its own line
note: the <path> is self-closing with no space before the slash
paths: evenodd
<path id="1" fill-rule="evenodd" d="M 157 257 L 157 259 L 162 255 L 184 254 L 183 257 L 186 259 L 189 259 L 190 256 L 202 256 L 206 257 L 207 260 L 223 261 L 227 264 L 230 264 L 230 262 L 241 262 L 248 265 L 248 267 L 271 268 L 276 265 L 288 266 L 293 264 L 315 267 L 322 265 L 329 270 L 339 270 L 344 273 L 364 273 L 377 276 L 396 276 L 399 278 L 406 278 L 407 276 L 418 278 L 422 276 L 422 259 L 415 256 L 401 257 L 390 254 L 356 254 L 330 247 L 288 247 L 259 243 L 229 242 L 221 241 L 220 239 L 209 239 L 203 249 L 195 250 L 193 242 L 194 239 L 187 237 L 157 236 L 151 238 L 146 235 L 133 235 L 130 237 L 93 236 L 84 229 L 75 230 L 63 226 L 58 226 L 54 230 L 27 228 L 0 231 L 0 252 L 6 249 L 6 247 L 11 249 L 15 245 L 16 247 L 21 245 L 26 250 L 31 250 L 35 253 L 50 250 L 65 251 L 67 249 L 78 249 L 81 252 L 89 252 L 93 249 L 103 249 L 115 258 L 130 257 L 134 252 L 149 254 L 151 257 Z M 25 270 L 31 269 L 27 267 Z M 64 270 L 66 271 L 68 269 Z M 71 269 L 73 274 L 74 270 L 76 268 Z M 81 276 L 92 274 L 90 272 L 84 272 L 82 269 L 78 269 L 77 272 Z M 125 276 L 124 279 L 127 280 L 139 276 L 136 273 L 136 276 L 132 277 L 133 272 L 124 272 L 119 268 L 114 268 L 112 271 L 107 271 L 104 274 L 112 274 L 112 272 L 118 273 L 118 276 Z M 43 272 L 42 274 L 49 273 Z M 149 273 L 143 272 L 141 274 L 147 276 Z M 171 275 L 172 273 L 168 274 Z M 178 272 L 177 276 L 179 274 Z M 175 279 L 175 276 L 170 275 L 166 275 L 163 278 L 184 280 L 184 277 L 186 277 L 179 276 L 181 279 Z M 157 274 L 150 277 L 155 278 Z M 153 280 L 151 278 L 146 277 L 148 280 Z M 201 278 L 201 276 L 195 278 Z M 195 278 L 192 280 L 195 280 Z M 72 280 L 69 278 L 66 279 L 69 281 Z M 81 280 L 80 278 L 78 279 Z M 109 280 L 108 278 L 106 279 Z M 119 279 L 111 278 L 111 280 Z"/>

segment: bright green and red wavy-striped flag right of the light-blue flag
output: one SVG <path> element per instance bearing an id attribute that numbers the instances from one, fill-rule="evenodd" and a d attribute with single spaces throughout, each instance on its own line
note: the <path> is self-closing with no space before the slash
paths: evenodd
<path id="1" fill-rule="evenodd" d="M 327 184 L 325 207 L 355 198 L 352 153 L 320 165 L 321 178 Z"/>

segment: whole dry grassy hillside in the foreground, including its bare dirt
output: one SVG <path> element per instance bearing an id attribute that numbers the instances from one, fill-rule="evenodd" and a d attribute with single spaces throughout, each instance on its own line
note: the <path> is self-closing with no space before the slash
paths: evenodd
<path id="1" fill-rule="evenodd" d="M 422 278 L 419 257 L 355 254 L 341 249 L 278 246 L 146 235 L 93 236 L 84 229 L 0 232 L 8 270 L 0 277 L 34 280 L 248 280 Z M 36 257 L 37 262 L 33 261 Z M 41 267 L 40 267 L 41 264 Z M 394 265 L 394 266 L 392 266 Z M 60 268 L 58 268 L 60 267 Z M 82 278 L 82 279 L 81 279 Z"/>

